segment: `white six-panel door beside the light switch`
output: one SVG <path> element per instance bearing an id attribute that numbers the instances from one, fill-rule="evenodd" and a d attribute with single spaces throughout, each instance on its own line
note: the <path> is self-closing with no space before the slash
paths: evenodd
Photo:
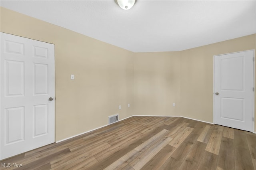
<path id="1" fill-rule="evenodd" d="M 54 44 L 1 33 L 0 73 L 0 159 L 53 143 Z"/>

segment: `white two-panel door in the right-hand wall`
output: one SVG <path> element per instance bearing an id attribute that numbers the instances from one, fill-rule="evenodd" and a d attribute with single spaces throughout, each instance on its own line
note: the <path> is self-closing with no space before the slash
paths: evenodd
<path id="1" fill-rule="evenodd" d="M 254 51 L 214 56 L 214 123 L 253 131 Z"/>

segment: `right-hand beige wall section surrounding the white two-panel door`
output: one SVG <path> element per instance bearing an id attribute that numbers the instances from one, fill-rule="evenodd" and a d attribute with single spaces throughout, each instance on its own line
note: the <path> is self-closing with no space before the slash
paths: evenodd
<path id="1" fill-rule="evenodd" d="M 213 56 L 255 49 L 256 34 L 181 51 L 181 115 L 213 122 Z"/>

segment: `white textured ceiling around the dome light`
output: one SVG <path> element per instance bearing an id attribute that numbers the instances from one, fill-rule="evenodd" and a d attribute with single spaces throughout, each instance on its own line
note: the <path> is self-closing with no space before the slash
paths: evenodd
<path id="1" fill-rule="evenodd" d="M 4 1 L 8 8 L 134 52 L 180 51 L 256 33 L 256 0 Z"/>

